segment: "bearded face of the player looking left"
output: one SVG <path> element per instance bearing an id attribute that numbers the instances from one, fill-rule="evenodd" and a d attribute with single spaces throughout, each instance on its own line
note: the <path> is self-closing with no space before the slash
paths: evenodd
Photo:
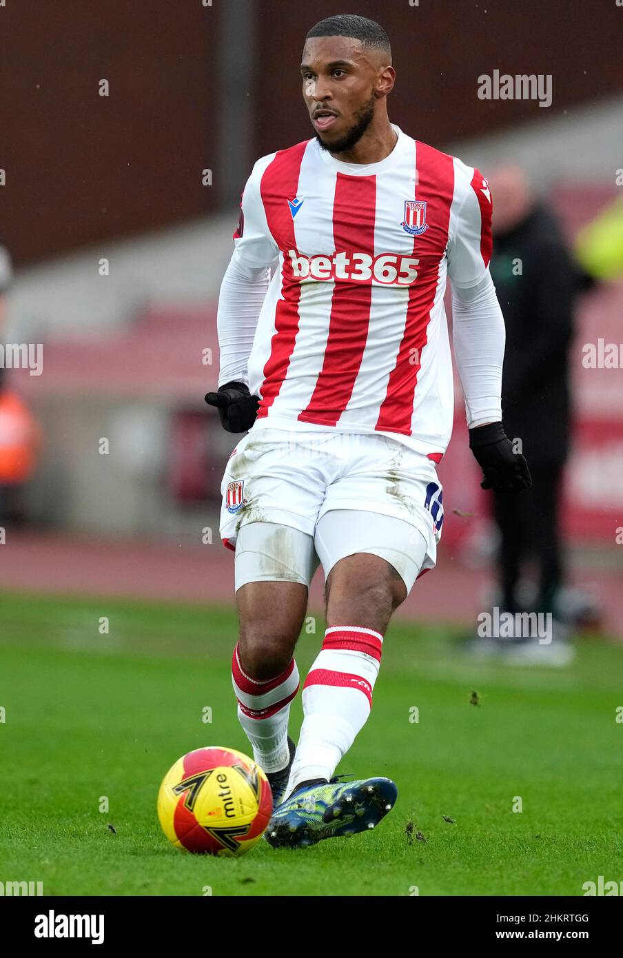
<path id="1" fill-rule="evenodd" d="M 317 36 L 303 50 L 303 99 L 321 146 L 352 148 L 374 118 L 379 64 L 359 40 Z M 345 146 L 346 145 L 346 146 Z"/>

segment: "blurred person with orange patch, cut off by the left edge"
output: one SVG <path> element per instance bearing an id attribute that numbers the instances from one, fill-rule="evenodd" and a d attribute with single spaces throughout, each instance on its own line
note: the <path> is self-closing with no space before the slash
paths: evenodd
<path id="1" fill-rule="evenodd" d="M 9 250 L 0 244 L 0 342 L 5 346 L 12 275 Z M 39 445 L 35 418 L 9 388 L 7 378 L 5 364 L 0 362 L 0 526 L 22 518 L 20 493 L 35 469 Z"/>

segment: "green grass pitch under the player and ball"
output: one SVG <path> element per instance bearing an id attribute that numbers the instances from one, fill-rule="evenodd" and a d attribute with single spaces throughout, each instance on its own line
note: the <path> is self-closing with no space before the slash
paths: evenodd
<path id="1" fill-rule="evenodd" d="M 390 776 L 395 809 L 350 839 L 215 859 L 173 849 L 155 801 L 184 752 L 250 751 L 232 609 L 3 596 L 0 622 L 3 881 L 42 880 L 47 895 L 581 896 L 623 878 L 621 647 L 512 669 L 469 661 L 449 629 L 392 625 L 372 715 L 338 771 Z M 302 675 L 322 634 L 318 620 L 299 640 Z M 299 696 L 291 732 L 301 718 Z"/>

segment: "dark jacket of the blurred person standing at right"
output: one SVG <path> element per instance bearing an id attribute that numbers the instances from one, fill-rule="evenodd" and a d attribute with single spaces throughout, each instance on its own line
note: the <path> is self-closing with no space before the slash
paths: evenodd
<path id="1" fill-rule="evenodd" d="M 506 433 L 521 438 L 528 463 L 562 463 L 570 428 L 568 348 L 581 280 L 546 209 L 536 207 L 519 226 L 496 234 L 491 274 L 506 325 Z"/>

